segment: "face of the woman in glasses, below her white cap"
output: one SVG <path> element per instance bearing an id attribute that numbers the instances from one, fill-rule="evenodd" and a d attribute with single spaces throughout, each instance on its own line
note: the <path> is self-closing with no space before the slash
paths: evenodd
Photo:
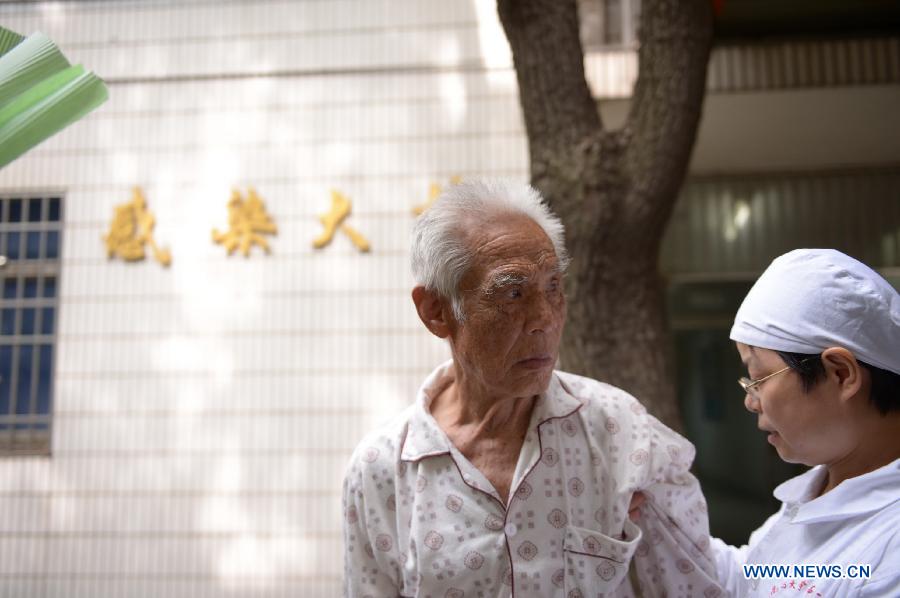
<path id="1" fill-rule="evenodd" d="M 769 349 L 737 343 L 748 376 L 758 380 L 787 364 Z M 760 383 L 755 395 L 747 394 L 744 406 L 757 414 L 760 430 L 788 463 L 819 465 L 832 463 L 849 452 L 852 427 L 829 385 L 817 384 L 803 391 L 800 376 L 787 370 Z"/>

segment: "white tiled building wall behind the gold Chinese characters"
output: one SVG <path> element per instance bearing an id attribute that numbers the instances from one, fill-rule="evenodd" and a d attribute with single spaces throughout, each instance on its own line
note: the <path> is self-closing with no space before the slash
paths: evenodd
<path id="1" fill-rule="evenodd" d="M 0 22 L 110 88 L 0 172 L 65 193 L 53 455 L 0 459 L 0 597 L 338 595 L 350 451 L 448 356 L 409 298 L 411 209 L 453 175 L 527 176 L 494 1 L 12 2 Z M 134 185 L 168 270 L 107 260 Z M 270 256 L 212 244 L 233 186 L 266 202 Z M 332 189 L 370 254 L 311 248 Z"/>

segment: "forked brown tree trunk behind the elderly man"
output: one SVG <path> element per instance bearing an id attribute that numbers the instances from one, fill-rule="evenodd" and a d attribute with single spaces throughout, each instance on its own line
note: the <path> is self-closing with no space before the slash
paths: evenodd
<path id="1" fill-rule="evenodd" d="M 575 0 L 498 0 L 513 52 L 531 182 L 566 227 L 565 369 L 634 394 L 679 429 L 658 261 L 703 106 L 709 0 L 644 0 L 625 126 L 603 127 L 584 77 Z"/>

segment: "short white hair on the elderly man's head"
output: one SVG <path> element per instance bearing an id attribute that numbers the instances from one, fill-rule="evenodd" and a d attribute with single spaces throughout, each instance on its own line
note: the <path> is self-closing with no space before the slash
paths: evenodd
<path id="1" fill-rule="evenodd" d="M 413 228 L 413 277 L 417 284 L 449 299 L 460 322 L 465 314 L 459 283 L 473 258 L 465 229 L 487 216 L 506 213 L 522 214 L 537 223 L 553 244 L 560 270 L 565 270 L 569 259 L 562 222 L 541 194 L 525 183 L 473 180 L 449 186 Z"/>

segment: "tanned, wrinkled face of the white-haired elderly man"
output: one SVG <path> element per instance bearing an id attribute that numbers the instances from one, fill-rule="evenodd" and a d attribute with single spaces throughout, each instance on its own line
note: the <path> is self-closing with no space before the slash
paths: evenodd
<path id="1" fill-rule="evenodd" d="M 520 215 L 469 230 L 473 265 L 460 283 L 465 321 L 450 323 L 454 361 L 490 394 L 539 394 L 550 383 L 566 319 L 553 244 Z"/>

